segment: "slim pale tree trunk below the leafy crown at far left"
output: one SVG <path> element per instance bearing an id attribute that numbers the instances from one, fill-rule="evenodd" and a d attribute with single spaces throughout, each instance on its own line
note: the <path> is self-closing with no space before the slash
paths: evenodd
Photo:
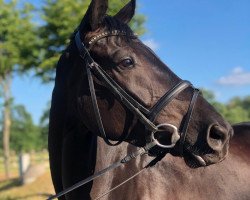
<path id="1" fill-rule="evenodd" d="M 4 168 L 6 179 L 10 178 L 10 126 L 11 126 L 11 75 L 7 75 L 5 80 L 2 80 L 3 88 L 3 154 Z"/>

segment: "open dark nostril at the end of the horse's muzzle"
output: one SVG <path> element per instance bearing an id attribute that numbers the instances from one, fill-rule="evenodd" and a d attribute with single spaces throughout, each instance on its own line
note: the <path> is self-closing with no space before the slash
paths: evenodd
<path id="1" fill-rule="evenodd" d="M 208 128 L 207 143 L 214 150 L 221 150 L 227 139 L 227 131 L 217 125 L 213 124 Z"/>

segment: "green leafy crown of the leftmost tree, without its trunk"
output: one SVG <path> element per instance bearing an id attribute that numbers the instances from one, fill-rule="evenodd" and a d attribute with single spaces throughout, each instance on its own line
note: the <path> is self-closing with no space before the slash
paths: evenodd
<path id="1" fill-rule="evenodd" d="M 37 43 L 31 22 L 33 7 L 17 6 L 17 1 L 0 0 L 0 79 L 13 70 L 24 70 L 34 64 Z"/>

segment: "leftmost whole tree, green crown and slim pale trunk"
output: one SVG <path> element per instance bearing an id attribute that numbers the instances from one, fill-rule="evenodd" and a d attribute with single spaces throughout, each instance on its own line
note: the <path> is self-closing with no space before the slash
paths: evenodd
<path id="1" fill-rule="evenodd" d="M 9 177 L 9 137 L 11 127 L 11 82 L 14 71 L 23 72 L 31 67 L 38 55 L 36 33 L 31 23 L 30 4 L 0 0 L 0 87 L 3 107 L 2 132 L 6 177 Z"/>

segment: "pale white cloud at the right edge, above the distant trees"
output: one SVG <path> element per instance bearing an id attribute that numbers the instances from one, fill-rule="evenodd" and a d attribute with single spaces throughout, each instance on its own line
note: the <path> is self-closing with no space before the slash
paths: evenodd
<path id="1" fill-rule="evenodd" d="M 218 83 L 231 86 L 250 85 L 250 72 L 242 67 L 235 67 L 229 75 L 219 78 Z"/>

